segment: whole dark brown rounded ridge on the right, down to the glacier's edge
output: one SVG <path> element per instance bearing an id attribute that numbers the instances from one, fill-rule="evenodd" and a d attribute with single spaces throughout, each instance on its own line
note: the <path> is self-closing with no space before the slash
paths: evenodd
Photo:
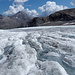
<path id="1" fill-rule="evenodd" d="M 73 22 L 73 23 L 72 23 Z M 51 26 L 75 24 L 75 8 L 55 12 L 47 17 L 36 17 L 28 22 L 28 26 Z"/>

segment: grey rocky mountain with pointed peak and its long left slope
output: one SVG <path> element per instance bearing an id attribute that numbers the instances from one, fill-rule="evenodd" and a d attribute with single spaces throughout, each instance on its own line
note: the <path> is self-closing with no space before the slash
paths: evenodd
<path id="1" fill-rule="evenodd" d="M 0 29 L 26 27 L 26 22 L 29 20 L 31 20 L 31 18 L 22 11 L 13 16 L 0 15 Z"/>

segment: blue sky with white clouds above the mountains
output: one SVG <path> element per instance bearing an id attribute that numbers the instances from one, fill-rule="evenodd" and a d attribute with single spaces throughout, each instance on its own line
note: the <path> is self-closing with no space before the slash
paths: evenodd
<path id="1" fill-rule="evenodd" d="M 75 8 L 75 0 L 0 0 L 0 14 L 6 16 L 19 11 L 31 17 L 48 16 L 68 8 Z"/>

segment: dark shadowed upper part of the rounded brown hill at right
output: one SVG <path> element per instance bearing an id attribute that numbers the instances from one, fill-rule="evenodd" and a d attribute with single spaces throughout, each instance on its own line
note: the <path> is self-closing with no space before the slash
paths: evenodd
<path id="1" fill-rule="evenodd" d="M 48 17 L 50 21 L 71 21 L 75 19 L 75 8 L 55 12 Z"/>

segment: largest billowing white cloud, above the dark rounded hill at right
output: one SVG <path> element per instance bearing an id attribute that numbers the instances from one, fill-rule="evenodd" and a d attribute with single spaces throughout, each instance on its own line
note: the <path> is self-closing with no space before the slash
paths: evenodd
<path id="1" fill-rule="evenodd" d="M 45 5 L 39 7 L 38 9 L 42 12 L 40 16 L 48 16 L 56 11 L 67 8 L 67 6 L 57 5 L 56 2 L 47 1 Z"/>

